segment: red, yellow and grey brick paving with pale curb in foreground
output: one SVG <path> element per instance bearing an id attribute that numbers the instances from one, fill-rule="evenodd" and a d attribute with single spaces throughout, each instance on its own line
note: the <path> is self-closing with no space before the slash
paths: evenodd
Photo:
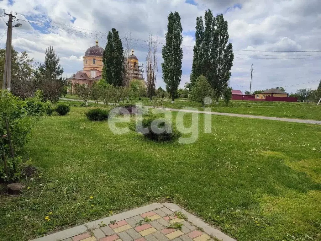
<path id="1" fill-rule="evenodd" d="M 175 225 L 175 227 L 173 227 Z M 153 203 L 31 241 L 235 241 L 173 203 Z"/>

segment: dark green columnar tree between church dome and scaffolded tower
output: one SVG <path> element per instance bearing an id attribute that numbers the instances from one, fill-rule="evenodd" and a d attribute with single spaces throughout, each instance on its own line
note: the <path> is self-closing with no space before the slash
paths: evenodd
<path id="1" fill-rule="evenodd" d="M 102 77 L 108 84 L 121 86 L 123 84 L 122 73 L 124 71 L 125 58 L 123 44 L 115 28 L 108 32 L 103 63 Z"/>

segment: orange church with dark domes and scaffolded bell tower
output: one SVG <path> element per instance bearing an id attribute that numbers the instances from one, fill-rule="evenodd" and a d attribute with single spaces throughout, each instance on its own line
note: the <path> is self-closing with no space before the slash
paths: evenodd
<path id="1" fill-rule="evenodd" d="M 102 57 L 104 54 L 104 49 L 98 46 L 98 40 L 96 40 L 96 45 L 90 47 L 86 50 L 83 56 L 83 69 L 78 71 L 76 74 L 68 78 L 68 83 L 72 85 L 68 86 L 68 93 L 74 92 L 73 87 L 75 84 L 91 86 L 94 82 L 98 82 L 102 79 L 102 68 L 103 62 Z M 134 55 L 134 49 L 132 49 L 132 55 L 127 58 L 129 76 L 130 80 L 139 79 L 142 80 L 146 85 L 144 80 L 144 69 L 143 64 L 138 62 L 137 57 Z"/>

